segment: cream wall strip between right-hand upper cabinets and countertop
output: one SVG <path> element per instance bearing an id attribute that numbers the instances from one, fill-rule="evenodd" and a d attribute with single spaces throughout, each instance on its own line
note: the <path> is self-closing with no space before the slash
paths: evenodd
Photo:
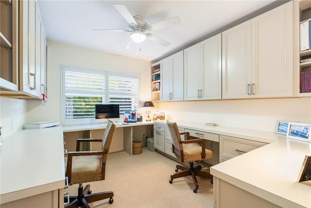
<path id="1" fill-rule="evenodd" d="M 274 132 L 276 121 L 311 124 L 311 97 L 159 103 L 170 120 Z"/>

